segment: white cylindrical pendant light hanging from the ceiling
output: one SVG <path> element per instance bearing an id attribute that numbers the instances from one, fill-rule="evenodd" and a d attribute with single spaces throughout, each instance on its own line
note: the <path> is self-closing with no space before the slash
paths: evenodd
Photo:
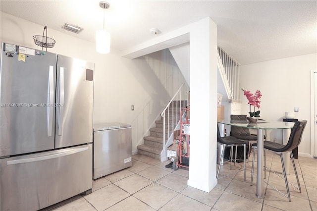
<path id="1" fill-rule="evenodd" d="M 98 53 L 110 52 L 110 33 L 105 29 L 105 10 L 109 8 L 109 3 L 100 1 L 99 6 L 104 9 L 104 28 L 96 31 L 96 51 Z"/>

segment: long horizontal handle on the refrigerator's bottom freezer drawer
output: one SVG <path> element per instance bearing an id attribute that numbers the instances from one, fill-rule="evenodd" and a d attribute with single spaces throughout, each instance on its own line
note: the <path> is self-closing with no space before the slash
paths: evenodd
<path id="1" fill-rule="evenodd" d="M 61 153 L 57 153 L 57 154 L 49 155 L 49 156 L 40 156 L 40 157 L 36 157 L 36 158 L 24 158 L 24 159 L 8 160 L 6 164 L 13 165 L 13 164 L 19 164 L 19 163 L 36 162 L 36 161 L 41 161 L 41 160 L 60 158 L 60 157 L 80 153 L 80 152 L 86 151 L 88 149 L 89 149 L 88 147 L 82 147 L 82 148 L 69 150 L 67 152 L 61 152 Z"/>

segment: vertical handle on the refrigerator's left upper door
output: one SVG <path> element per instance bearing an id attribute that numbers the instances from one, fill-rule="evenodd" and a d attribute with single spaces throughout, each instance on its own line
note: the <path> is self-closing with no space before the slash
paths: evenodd
<path id="1" fill-rule="evenodd" d="M 54 106 L 53 106 L 53 101 L 54 101 L 54 67 L 50 65 L 49 69 L 49 95 L 48 95 L 48 100 L 49 100 L 49 105 L 48 107 L 48 137 L 52 136 L 52 126 L 53 126 L 53 111 L 54 111 Z"/>

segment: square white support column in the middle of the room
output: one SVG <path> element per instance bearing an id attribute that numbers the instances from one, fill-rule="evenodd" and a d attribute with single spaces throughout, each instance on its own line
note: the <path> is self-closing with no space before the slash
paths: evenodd
<path id="1" fill-rule="evenodd" d="M 191 25 L 191 136 L 188 185 L 210 192 L 216 179 L 217 26 L 209 18 Z"/>

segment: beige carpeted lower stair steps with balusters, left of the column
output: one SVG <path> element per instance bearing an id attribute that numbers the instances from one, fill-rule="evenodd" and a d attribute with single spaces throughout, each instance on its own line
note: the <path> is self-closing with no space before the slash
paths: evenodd
<path id="1" fill-rule="evenodd" d="M 180 109 L 176 109 L 175 107 L 186 107 L 187 102 L 185 101 L 173 101 L 170 105 L 168 110 L 166 110 L 165 116 L 165 140 L 168 140 L 168 134 L 172 134 L 174 128 L 178 124 L 180 120 Z M 155 121 L 156 127 L 150 128 L 150 136 L 145 136 L 144 144 L 139 145 L 137 147 L 138 154 L 144 155 L 147 157 L 155 158 L 160 160 L 160 154 L 163 150 L 163 117 L 160 120 Z M 169 129 L 167 127 L 169 126 Z M 169 131 L 168 131 L 169 130 Z M 168 147 L 168 146 L 167 146 Z"/>

